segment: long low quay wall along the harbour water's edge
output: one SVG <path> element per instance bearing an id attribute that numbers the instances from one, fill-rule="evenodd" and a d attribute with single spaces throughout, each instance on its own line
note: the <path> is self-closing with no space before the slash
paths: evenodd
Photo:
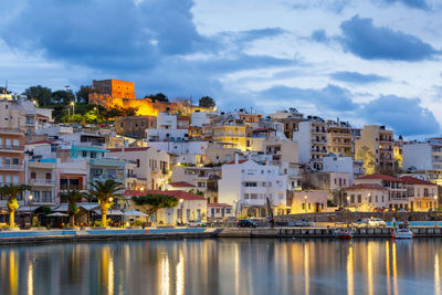
<path id="1" fill-rule="evenodd" d="M 414 238 L 442 238 L 442 228 L 412 228 Z M 393 228 L 355 229 L 355 238 L 391 239 Z M 0 245 L 83 241 L 125 241 L 139 239 L 193 238 L 323 238 L 333 239 L 332 228 L 259 228 L 259 229 L 146 229 L 146 230 L 53 230 L 0 232 Z"/>

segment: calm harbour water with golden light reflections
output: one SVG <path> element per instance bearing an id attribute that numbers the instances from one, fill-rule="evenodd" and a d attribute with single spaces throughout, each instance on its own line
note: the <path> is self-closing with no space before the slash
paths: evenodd
<path id="1" fill-rule="evenodd" d="M 0 294 L 442 294 L 441 240 L 0 247 Z"/>

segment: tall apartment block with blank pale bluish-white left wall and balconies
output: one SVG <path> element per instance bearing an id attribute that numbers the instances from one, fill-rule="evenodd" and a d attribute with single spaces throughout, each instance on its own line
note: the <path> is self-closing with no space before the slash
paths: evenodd
<path id="1" fill-rule="evenodd" d="M 314 170 L 323 169 L 323 157 L 327 156 L 327 124 L 316 116 L 301 122 L 293 140 L 299 144 L 299 162 L 308 164 Z"/>

